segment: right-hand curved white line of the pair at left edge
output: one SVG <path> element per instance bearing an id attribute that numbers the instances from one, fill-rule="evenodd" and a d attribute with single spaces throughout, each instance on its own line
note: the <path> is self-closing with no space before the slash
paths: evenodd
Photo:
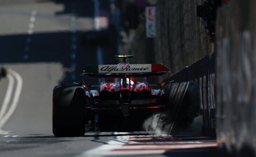
<path id="1" fill-rule="evenodd" d="M 19 102 L 20 93 L 21 93 L 21 89 L 22 89 L 22 83 L 23 83 L 20 74 L 18 74 L 17 72 L 15 72 L 12 69 L 8 69 L 8 73 L 10 73 L 11 75 L 13 75 L 16 78 L 17 87 L 14 92 L 13 102 L 10 105 L 9 110 L 4 115 L 4 117 L 2 119 L 0 119 L 0 128 L 5 125 L 5 123 L 8 121 L 8 119 L 12 116 L 13 112 L 15 111 L 15 109 L 18 105 L 18 102 Z"/>

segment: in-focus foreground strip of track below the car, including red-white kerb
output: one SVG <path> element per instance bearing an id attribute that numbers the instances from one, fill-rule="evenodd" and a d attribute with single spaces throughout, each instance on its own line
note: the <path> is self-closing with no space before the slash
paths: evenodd
<path id="1" fill-rule="evenodd" d="M 87 133 L 88 134 L 88 133 Z M 97 133 L 58 138 L 52 134 L 1 135 L 0 155 L 13 156 L 224 156 L 216 141 L 203 136 L 157 136 L 145 133 Z"/>

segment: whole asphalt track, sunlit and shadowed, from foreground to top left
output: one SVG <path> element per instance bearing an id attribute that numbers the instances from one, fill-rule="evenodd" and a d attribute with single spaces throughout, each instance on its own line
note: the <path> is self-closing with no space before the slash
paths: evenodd
<path id="1" fill-rule="evenodd" d="M 110 16 L 106 4 L 95 14 L 92 2 L 0 0 L 0 63 L 9 70 L 0 80 L 0 156 L 220 156 L 214 139 L 196 135 L 52 134 L 53 87 L 79 82 L 85 65 L 115 63 L 116 43 L 79 44 L 83 32 L 104 27 L 95 15 Z"/>

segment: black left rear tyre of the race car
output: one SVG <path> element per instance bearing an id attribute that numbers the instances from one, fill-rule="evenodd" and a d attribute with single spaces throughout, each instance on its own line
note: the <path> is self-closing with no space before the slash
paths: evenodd
<path id="1" fill-rule="evenodd" d="M 58 85 L 53 89 L 53 134 L 58 137 L 85 134 L 85 89 L 81 85 Z"/>

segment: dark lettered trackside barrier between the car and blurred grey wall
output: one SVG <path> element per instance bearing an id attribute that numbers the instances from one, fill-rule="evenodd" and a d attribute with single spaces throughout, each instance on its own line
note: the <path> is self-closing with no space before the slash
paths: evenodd
<path id="1" fill-rule="evenodd" d="M 193 82 L 200 97 L 202 133 L 215 137 L 215 53 L 196 61 L 171 76 L 175 82 Z"/>

